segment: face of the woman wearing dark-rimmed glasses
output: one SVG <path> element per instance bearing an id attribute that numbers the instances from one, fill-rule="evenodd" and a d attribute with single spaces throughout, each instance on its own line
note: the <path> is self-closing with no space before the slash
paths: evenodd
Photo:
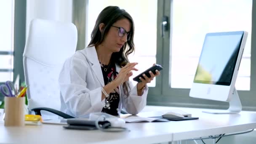
<path id="1" fill-rule="evenodd" d="M 121 29 L 118 27 L 121 27 Z M 125 30 L 125 32 L 130 32 L 131 23 L 128 19 L 116 21 L 114 24 L 112 24 L 112 27 L 110 27 L 107 35 L 105 35 L 103 43 L 101 44 L 108 48 L 109 51 L 119 52 L 123 45 L 127 42 L 127 33 L 123 35 L 123 37 L 118 35 L 119 29 L 122 30 L 122 28 Z"/>

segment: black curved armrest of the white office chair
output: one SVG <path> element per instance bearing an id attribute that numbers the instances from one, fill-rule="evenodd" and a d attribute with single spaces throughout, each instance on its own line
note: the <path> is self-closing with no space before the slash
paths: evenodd
<path id="1" fill-rule="evenodd" d="M 36 115 L 41 115 L 41 110 L 45 110 L 47 112 L 54 113 L 56 115 L 59 115 L 60 117 L 66 118 L 66 119 L 75 118 L 75 117 L 72 117 L 71 115 L 65 114 L 64 112 L 61 112 L 61 111 L 56 110 L 56 109 L 51 109 L 51 108 L 48 108 L 48 107 L 37 107 L 37 108 L 31 109 L 31 110 L 35 111 Z"/>

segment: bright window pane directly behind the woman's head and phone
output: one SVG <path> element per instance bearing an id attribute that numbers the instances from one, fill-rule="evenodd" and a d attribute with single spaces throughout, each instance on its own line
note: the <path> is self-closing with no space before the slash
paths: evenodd
<path id="1" fill-rule="evenodd" d="M 109 5 L 125 9 L 135 23 L 135 53 L 130 54 L 130 62 L 138 62 L 138 72 L 133 77 L 156 63 L 157 47 L 157 0 L 89 0 L 88 1 L 88 30 L 86 46 L 91 40 L 91 32 L 99 13 Z M 150 42 L 150 43 L 149 43 Z M 137 82 L 134 82 L 136 84 Z M 149 86 L 155 87 L 155 79 Z"/>

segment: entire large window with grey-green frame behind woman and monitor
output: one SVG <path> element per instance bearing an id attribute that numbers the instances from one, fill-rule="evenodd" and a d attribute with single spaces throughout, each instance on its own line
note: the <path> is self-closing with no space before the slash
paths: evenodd
<path id="1" fill-rule="evenodd" d="M 150 85 L 148 105 L 227 109 L 225 102 L 189 97 L 189 88 L 206 33 L 247 31 L 236 88 L 243 109 L 256 110 L 256 76 L 251 75 L 256 73 L 256 51 L 251 49 L 256 46 L 253 0 L 89 0 L 87 45 L 96 17 L 108 5 L 124 8 L 134 19 L 136 52 L 129 59 L 139 62 L 138 74 L 155 62 L 164 68 Z M 168 27 L 162 32 L 166 17 Z M 146 29 L 146 34 L 141 29 Z"/>

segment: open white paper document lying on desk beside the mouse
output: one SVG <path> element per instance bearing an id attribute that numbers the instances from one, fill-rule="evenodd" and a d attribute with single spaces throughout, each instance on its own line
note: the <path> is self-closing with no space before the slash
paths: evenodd
<path id="1" fill-rule="evenodd" d="M 162 119 L 162 118 L 152 118 L 152 117 L 139 117 L 137 115 L 127 115 L 122 117 L 126 123 L 139 123 L 139 122 L 168 122 L 169 120 Z"/>

